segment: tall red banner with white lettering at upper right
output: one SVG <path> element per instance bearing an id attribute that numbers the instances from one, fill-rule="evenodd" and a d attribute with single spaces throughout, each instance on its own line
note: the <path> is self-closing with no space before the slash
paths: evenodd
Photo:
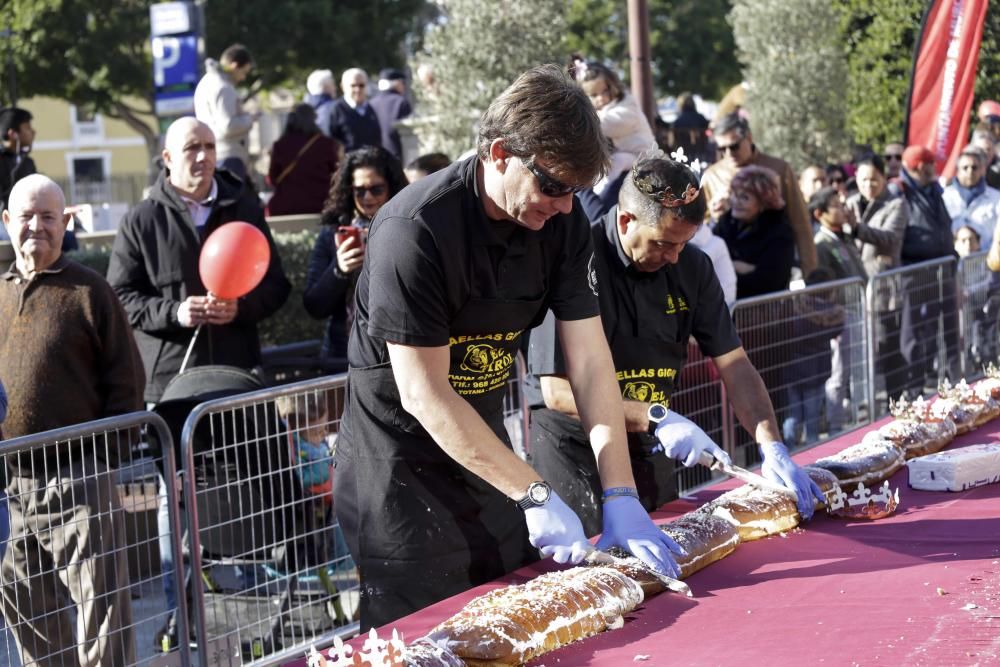
<path id="1" fill-rule="evenodd" d="M 914 51 L 906 145 L 926 146 L 951 178 L 969 141 L 979 43 L 989 0 L 933 0 Z"/>

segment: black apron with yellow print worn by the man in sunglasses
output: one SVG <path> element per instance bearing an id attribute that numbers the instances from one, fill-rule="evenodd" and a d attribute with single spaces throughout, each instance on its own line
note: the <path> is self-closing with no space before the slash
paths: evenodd
<path id="1" fill-rule="evenodd" d="M 510 446 L 503 397 L 544 299 L 470 299 L 451 324 L 449 381 Z M 337 517 L 361 576 L 361 631 L 538 559 L 524 514 L 405 412 L 392 368 L 351 368 L 337 443 Z"/>

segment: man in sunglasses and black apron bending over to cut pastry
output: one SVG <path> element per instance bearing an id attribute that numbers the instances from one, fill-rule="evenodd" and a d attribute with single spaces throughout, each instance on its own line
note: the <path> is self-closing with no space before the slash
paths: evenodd
<path id="1" fill-rule="evenodd" d="M 503 425 L 521 335 L 550 308 L 614 507 L 607 539 L 676 573 L 679 547 L 637 500 L 574 205 L 608 164 L 593 107 L 558 67 L 535 68 L 490 105 L 477 149 L 404 189 L 368 236 L 334 490 L 362 631 L 536 560 L 533 546 L 586 554 L 580 520 Z"/>

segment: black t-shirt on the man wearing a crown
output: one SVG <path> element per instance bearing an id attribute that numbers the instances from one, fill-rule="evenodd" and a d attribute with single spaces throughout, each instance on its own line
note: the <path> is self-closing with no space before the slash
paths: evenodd
<path id="1" fill-rule="evenodd" d="M 606 267 L 598 272 L 597 285 L 608 342 L 624 334 L 686 344 L 693 336 L 708 357 L 740 347 L 708 255 L 689 243 L 676 264 L 654 272 L 638 271 L 621 246 L 617 215 L 615 207 L 591 227 L 594 250 L 600 259 L 595 266 Z M 531 332 L 528 368 L 535 376 L 566 374 L 554 325 L 550 314 Z M 540 401 L 540 396 L 529 400 Z"/>

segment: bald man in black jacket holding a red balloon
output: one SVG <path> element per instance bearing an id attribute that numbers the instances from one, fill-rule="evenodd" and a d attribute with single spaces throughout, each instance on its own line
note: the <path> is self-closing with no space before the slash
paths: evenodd
<path id="1" fill-rule="evenodd" d="M 108 282 L 129 321 L 146 368 L 146 401 L 160 400 L 178 373 L 192 334 L 189 366 L 260 364 L 257 324 L 277 311 L 291 290 L 257 197 L 230 172 L 215 168 L 215 135 L 194 118 L 167 129 L 165 168 L 149 196 L 118 228 Z M 198 273 L 204 240 L 227 222 L 254 225 L 271 246 L 271 264 L 253 291 L 236 300 L 209 295 Z"/>

